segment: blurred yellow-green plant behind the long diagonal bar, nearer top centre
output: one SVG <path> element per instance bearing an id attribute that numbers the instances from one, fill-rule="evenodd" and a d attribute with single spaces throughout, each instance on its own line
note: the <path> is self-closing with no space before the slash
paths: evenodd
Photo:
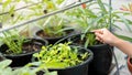
<path id="1" fill-rule="evenodd" d="M 32 18 L 32 17 L 44 15 L 52 11 L 58 10 L 59 9 L 58 6 L 64 0 L 42 0 L 40 1 L 41 3 L 29 8 L 29 10 L 31 10 L 32 12 L 28 17 Z"/>

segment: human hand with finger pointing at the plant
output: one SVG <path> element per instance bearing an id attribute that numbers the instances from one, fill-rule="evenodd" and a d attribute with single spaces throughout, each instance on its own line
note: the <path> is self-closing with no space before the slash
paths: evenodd
<path id="1" fill-rule="evenodd" d="M 96 40 L 98 40 L 98 41 L 100 41 L 102 43 L 114 45 L 116 41 L 119 40 L 116 35 L 113 35 L 107 29 L 99 29 L 99 30 L 95 30 L 94 32 L 96 34 Z"/>

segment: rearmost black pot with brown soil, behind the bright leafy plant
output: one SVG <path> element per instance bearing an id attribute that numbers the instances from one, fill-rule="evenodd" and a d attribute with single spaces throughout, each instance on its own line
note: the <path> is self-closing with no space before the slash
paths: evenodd
<path id="1" fill-rule="evenodd" d="M 61 40 L 61 39 L 63 39 L 63 38 L 65 38 L 65 36 L 67 36 L 67 35 L 73 34 L 73 33 L 75 32 L 75 30 L 74 30 L 74 29 L 70 29 L 70 30 L 66 30 L 65 32 L 66 32 L 66 35 L 47 38 L 47 36 L 40 36 L 38 34 L 40 34 L 40 33 L 44 33 L 44 31 L 43 31 L 43 30 L 38 30 L 38 31 L 36 31 L 36 32 L 34 33 L 34 36 L 35 36 L 35 38 L 41 38 L 41 39 L 47 40 L 47 41 L 48 41 L 48 44 L 54 44 L 54 43 L 56 43 L 58 40 Z M 62 41 L 62 43 L 64 43 L 64 42 L 67 42 L 67 40 Z"/>

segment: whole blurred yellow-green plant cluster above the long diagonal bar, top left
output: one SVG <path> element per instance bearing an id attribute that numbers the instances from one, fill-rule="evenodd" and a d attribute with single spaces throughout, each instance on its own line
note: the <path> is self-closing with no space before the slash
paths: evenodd
<path id="1" fill-rule="evenodd" d="M 1 0 L 0 22 L 4 25 L 12 25 L 21 21 L 26 21 L 57 10 L 63 1 L 64 0 Z M 22 7 L 19 6 L 21 3 Z"/>

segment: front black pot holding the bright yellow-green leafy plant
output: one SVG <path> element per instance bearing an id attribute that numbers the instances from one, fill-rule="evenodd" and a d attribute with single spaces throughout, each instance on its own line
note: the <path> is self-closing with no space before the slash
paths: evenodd
<path id="1" fill-rule="evenodd" d="M 88 56 L 88 58 L 86 61 L 84 61 L 82 63 L 76 65 L 76 66 L 70 66 L 70 67 L 66 67 L 66 68 L 50 68 L 50 71 L 57 71 L 58 75 L 88 75 L 88 65 L 91 63 L 94 54 L 89 49 L 85 49 L 85 47 L 78 47 L 79 52 L 85 53 L 85 52 L 89 52 L 90 55 Z"/>

